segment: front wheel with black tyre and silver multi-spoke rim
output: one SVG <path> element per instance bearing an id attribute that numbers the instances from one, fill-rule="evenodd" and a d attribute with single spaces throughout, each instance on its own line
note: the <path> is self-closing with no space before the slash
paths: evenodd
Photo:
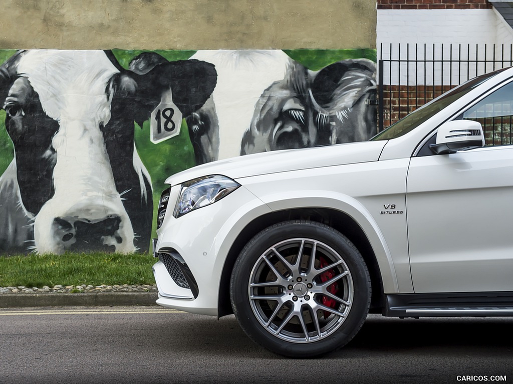
<path id="1" fill-rule="evenodd" d="M 358 249 L 339 231 L 304 220 L 255 235 L 230 280 L 233 312 L 244 332 L 289 357 L 318 356 L 346 345 L 365 321 L 370 295 Z"/>

